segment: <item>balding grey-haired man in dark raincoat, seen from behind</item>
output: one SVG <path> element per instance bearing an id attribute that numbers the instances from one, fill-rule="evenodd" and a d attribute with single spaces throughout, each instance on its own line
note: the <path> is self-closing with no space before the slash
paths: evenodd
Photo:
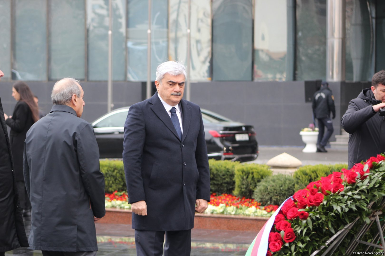
<path id="1" fill-rule="evenodd" d="M 105 215 L 99 148 L 92 126 L 80 118 L 84 92 L 78 82 L 55 83 L 51 112 L 33 124 L 24 143 L 29 248 L 44 256 L 96 255 L 94 222 Z"/>

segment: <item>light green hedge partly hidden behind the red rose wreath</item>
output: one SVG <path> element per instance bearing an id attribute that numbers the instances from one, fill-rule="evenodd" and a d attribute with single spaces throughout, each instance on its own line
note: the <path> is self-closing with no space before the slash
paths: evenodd
<path id="1" fill-rule="evenodd" d="M 293 173 L 295 179 L 295 189 L 306 188 L 306 186 L 312 182 L 319 180 L 321 177 L 326 177 L 333 172 L 340 172 L 342 168 L 348 168 L 347 164 L 335 164 L 335 165 L 305 165 Z"/>

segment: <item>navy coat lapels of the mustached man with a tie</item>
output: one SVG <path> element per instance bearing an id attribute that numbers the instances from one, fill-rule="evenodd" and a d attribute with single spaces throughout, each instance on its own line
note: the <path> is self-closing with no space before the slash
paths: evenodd
<path id="1" fill-rule="evenodd" d="M 151 109 L 154 113 L 161 119 L 161 121 L 167 126 L 168 129 L 179 139 L 179 136 L 175 130 L 174 125 L 172 124 L 170 116 L 167 114 L 166 109 L 164 108 L 161 100 L 159 99 L 158 93 L 150 98 L 149 103 L 152 104 Z M 181 100 L 182 107 L 182 126 L 183 126 L 183 134 L 182 134 L 182 142 L 186 138 L 187 132 L 189 130 L 190 121 L 191 121 L 191 107 L 188 106 L 188 101 L 184 99 Z"/>

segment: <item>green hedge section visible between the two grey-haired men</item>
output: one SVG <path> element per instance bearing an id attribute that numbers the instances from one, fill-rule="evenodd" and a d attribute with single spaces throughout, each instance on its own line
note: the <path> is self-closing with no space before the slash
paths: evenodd
<path id="1" fill-rule="evenodd" d="M 127 190 L 123 161 L 100 160 L 100 172 L 104 174 L 105 193 Z"/>

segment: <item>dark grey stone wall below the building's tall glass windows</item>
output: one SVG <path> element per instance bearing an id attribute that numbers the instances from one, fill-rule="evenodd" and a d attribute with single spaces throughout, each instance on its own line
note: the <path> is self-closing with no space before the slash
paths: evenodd
<path id="1" fill-rule="evenodd" d="M 52 107 L 50 94 L 54 82 L 26 83 L 39 97 L 40 108 L 48 113 Z M 82 118 L 92 122 L 107 112 L 107 82 L 80 84 L 85 101 Z M 306 90 L 309 90 L 309 82 L 306 84 Z M 349 101 L 357 97 L 363 88 L 370 87 L 370 83 L 343 81 L 329 84 L 336 105 L 334 134 L 331 137 L 334 141 L 333 136 L 341 132 L 340 120 Z M 142 82 L 114 82 L 114 109 L 141 101 L 143 87 Z M 0 96 L 8 115 L 12 114 L 16 104 L 11 90 L 12 83 L 0 82 Z M 307 92 L 306 95 L 309 94 Z M 253 125 L 259 145 L 304 145 L 299 132 L 313 122 L 311 102 L 305 102 L 305 81 L 192 83 L 191 101 L 234 121 Z"/>

